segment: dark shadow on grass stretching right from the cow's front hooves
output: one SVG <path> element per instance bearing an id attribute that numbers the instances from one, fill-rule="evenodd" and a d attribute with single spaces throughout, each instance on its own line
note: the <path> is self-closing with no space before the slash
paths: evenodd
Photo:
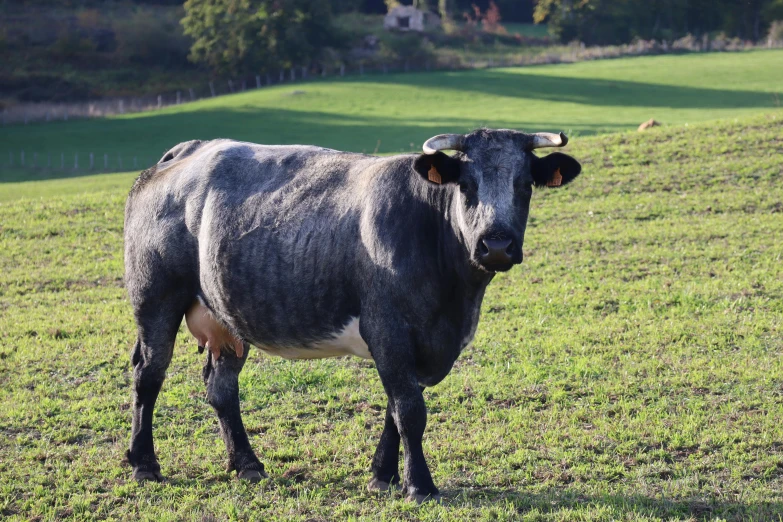
<path id="1" fill-rule="evenodd" d="M 566 488 L 549 488 L 538 492 L 526 492 L 524 489 L 466 488 L 444 490 L 442 493 L 446 506 L 480 508 L 511 504 L 520 515 L 569 510 L 578 513 L 585 508 L 608 511 L 604 514 L 610 518 L 625 518 L 624 515 L 637 514 L 663 519 L 779 520 L 783 514 L 783 502 L 731 502 L 696 497 L 653 498 L 641 494 L 585 495 Z"/>

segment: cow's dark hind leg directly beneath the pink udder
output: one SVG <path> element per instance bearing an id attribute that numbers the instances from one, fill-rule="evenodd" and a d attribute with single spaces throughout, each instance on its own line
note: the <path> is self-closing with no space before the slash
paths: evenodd
<path id="1" fill-rule="evenodd" d="M 228 451 L 228 471 L 236 470 L 240 479 L 257 482 L 266 477 L 264 465 L 250 447 L 239 411 L 239 372 L 245 365 L 249 348 L 245 343 L 242 357 L 237 357 L 231 350 L 224 350 L 217 360 L 207 350 L 204 383 L 207 385 L 207 399 L 220 421 L 220 434 Z"/>

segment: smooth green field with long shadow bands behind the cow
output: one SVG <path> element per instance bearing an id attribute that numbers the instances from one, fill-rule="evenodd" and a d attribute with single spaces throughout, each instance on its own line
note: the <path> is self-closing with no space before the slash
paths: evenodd
<path id="1" fill-rule="evenodd" d="M 585 136 L 634 129 L 650 118 L 692 124 L 779 107 L 781 63 L 783 50 L 769 50 L 357 76 L 105 120 L 9 126 L 0 128 L 0 179 L 73 175 L 77 153 L 82 169 L 91 152 L 101 167 L 108 154 L 111 170 L 128 170 L 134 156 L 142 168 L 194 138 L 389 153 L 418 149 L 433 134 L 482 125 Z M 19 169 L 22 150 L 28 166 L 38 154 L 38 165 L 51 155 L 59 167 L 64 154 L 68 169 Z"/>

